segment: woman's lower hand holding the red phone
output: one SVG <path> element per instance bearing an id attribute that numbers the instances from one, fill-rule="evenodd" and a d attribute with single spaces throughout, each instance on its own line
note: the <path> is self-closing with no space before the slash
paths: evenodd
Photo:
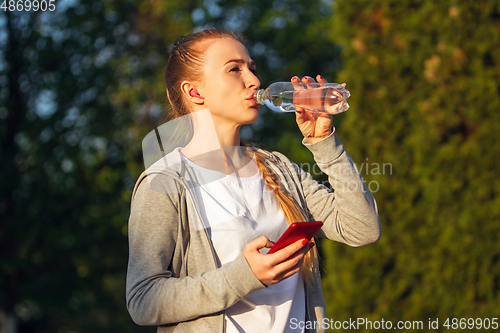
<path id="1" fill-rule="evenodd" d="M 266 236 L 260 236 L 248 242 L 243 248 L 243 256 L 248 262 L 255 276 L 270 286 L 276 284 L 300 271 L 304 255 L 314 243 L 301 239 L 272 254 L 262 254 L 263 247 L 272 247 L 273 243 Z"/>

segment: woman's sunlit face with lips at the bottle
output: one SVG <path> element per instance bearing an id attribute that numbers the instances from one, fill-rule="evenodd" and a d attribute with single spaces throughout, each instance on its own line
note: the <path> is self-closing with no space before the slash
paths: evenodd
<path id="1" fill-rule="evenodd" d="M 243 44 L 230 38 L 216 40 L 205 53 L 204 68 L 198 91 L 214 124 L 239 127 L 257 120 L 258 105 L 252 95 L 260 81 Z"/>

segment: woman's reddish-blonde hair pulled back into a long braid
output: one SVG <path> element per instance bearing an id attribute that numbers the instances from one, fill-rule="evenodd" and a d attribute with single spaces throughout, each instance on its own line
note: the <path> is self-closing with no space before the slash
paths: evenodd
<path id="1" fill-rule="evenodd" d="M 182 36 L 174 43 L 175 46 L 170 53 L 168 65 L 165 70 L 166 91 L 173 118 L 189 114 L 189 109 L 182 95 L 181 83 L 184 80 L 196 82 L 200 80 L 200 77 L 203 77 L 204 55 L 210 46 L 209 42 L 224 38 L 232 38 L 243 43 L 241 35 L 218 29 L 202 30 L 188 37 Z M 242 145 L 245 144 L 242 143 Z M 276 195 L 288 223 L 305 222 L 306 218 L 302 214 L 298 204 L 280 186 L 277 176 L 266 165 L 265 154 L 260 151 L 254 151 L 254 153 L 259 172 L 266 181 L 266 187 Z M 312 283 L 314 274 L 318 272 L 318 252 L 316 246 L 305 255 L 301 271 L 306 284 Z"/>

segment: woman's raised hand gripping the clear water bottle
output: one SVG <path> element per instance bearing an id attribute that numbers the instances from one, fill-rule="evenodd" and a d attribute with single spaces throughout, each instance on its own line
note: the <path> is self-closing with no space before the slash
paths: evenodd
<path id="1" fill-rule="evenodd" d="M 316 78 L 320 85 L 327 83 L 321 75 L 318 75 Z M 316 84 L 316 81 L 310 76 L 304 76 L 301 82 L 297 76 L 294 76 L 292 83 L 296 90 L 302 90 L 304 86 L 307 87 L 311 84 Z M 343 85 L 345 86 L 345 83 Z M 302 107 L 297 107 L 295 111 L 297 125 L 309 143 L 314 143 L 332 134 L 331 114 L 306 112 Z"/>

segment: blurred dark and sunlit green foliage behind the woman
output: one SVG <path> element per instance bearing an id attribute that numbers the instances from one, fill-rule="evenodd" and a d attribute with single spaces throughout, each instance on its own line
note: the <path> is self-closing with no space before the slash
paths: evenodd
<path id="1" fill-rule="evenodd" d="M 131 189 L 168 50 L 199 27 L 241 31 L 262 87 L 321 74 L 352 93 L 334 121 L 383 233 L 322 242 L 329 318 L 500 316 L 498 1 L 55 6 L 0 10 L 0 332 L 155 331 L 125 307 Z M 261 108 L 242 136 L 313 163 L 293 114 Z"/>

